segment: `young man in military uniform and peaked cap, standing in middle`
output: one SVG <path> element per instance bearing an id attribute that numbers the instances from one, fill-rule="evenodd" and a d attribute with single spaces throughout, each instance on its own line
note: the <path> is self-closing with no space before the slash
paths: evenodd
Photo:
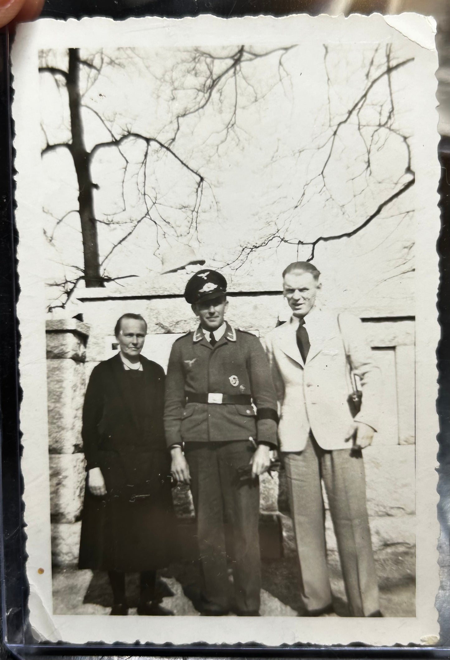
<path id="1" fill-rule="evenodd" d="M 225 537 L 231 538 L 234 610 L 260 609 L 259 475 L 277 444 L 277 402 L 257 337 L 224 321 L 227 281 L 204 269 L 184 298 L 200 325 L 175 341 L 165 389 L 164 424 L 171 470 L 190 484 L 200 550 L 204 615 L 231 608 Z M 225 527 L 228 527 L 225 530 Z"/>

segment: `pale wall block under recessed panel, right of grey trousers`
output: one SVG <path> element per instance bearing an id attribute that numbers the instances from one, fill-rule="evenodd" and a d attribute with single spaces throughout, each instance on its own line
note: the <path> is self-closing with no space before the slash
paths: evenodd
<path id="1" fill-rule="evenodd" d="M 415 510 L 414 446 L 364 449 L 370 516 L 403 516 Z"/>

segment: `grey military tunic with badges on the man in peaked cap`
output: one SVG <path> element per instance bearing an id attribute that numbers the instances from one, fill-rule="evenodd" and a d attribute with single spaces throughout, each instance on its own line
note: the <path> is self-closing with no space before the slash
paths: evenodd
<path id="1" fill-rule="evenodd" d="M 250 400 L 231 405 L 186 403 L 186 395 L 196 393 L 247 395 L 254 406 Z M 275 444 L 276 411 L 267 358 L 257 337 L 227 323 L 215 347 L 206 341 L 200 327 L 175 341 L 165 391 L 164 424 L 169 447 L 181 442 L 257 439 Z"/>

